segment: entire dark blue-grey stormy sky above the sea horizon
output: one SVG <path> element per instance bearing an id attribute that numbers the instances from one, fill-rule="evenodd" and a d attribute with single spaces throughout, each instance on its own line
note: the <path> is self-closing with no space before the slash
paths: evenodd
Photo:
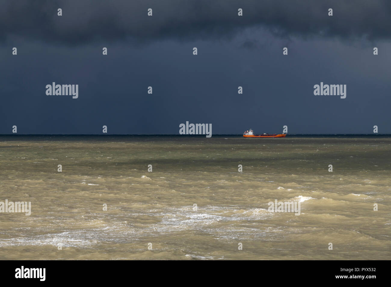
<path id="1" fill-rule="evenodd" d="M 1 1 L 0 134 L 391 133 L 391 1 L 319 2 Z"/>

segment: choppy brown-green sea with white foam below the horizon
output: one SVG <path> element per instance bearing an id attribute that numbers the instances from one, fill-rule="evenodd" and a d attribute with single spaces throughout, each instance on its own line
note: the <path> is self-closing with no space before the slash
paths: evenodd
<path id="1" fill-rule="evenodd" d="M 389 259 L 390 144 L 3 135 L 0 201 L 32 213 L 0 213 L 0 259 Z"/>

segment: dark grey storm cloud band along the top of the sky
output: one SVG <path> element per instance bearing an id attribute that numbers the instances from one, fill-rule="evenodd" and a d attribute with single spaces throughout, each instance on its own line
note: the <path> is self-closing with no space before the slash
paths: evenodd
<path id="1" fill-rule="evenodd" d="M 57 9 L 63 16 L 57 16 Z M 147 9 L 153 16 L 147 16 Z M 242 17 L 237 15 L 243 9 Z M 328 16 L 332 8 L 334 16 Z M 61 45 L 95 40 L 229 38 L 263 26 L 278 36 L 388 39 L 391 1 L 18 0 L 0 3 L 0 40 L 30 37 Z M 247 46 L 254 45 L 248 42 Z"/>

